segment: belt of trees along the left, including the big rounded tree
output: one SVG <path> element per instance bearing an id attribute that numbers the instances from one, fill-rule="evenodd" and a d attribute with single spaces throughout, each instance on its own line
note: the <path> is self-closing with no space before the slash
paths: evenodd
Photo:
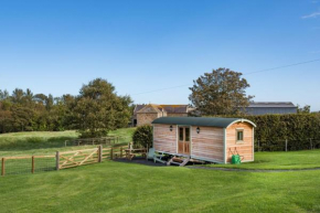
<path id="1" fill-rule="evenodd" d="M 105 136 L 110 129 L 128 126 L 131 103 L 102 78 L 83 85 L 77 96 L 53 97 L 20 88 L 10 95 L 0 89 L 0 134 L 78 129 L 82 137 Z"/>

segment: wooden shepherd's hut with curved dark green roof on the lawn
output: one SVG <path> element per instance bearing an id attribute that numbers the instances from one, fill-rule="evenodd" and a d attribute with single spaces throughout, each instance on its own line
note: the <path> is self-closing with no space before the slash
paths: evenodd
<path id="1" fill-rule="evenodd" d="M 254 161 L 254 128 L 242 118 L 161 117 L 152 121 L 157 152 L 215 163 Z"/>

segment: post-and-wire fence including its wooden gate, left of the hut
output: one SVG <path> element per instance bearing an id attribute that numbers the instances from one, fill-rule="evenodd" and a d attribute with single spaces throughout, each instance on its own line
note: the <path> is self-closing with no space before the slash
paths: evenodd
<path id="1" fill-rule="evenodd" d="M 9 174 L 35 173 L 36 171 L 61 170 L 113 160 L 125 157 L 127 148 L 127 146 L 108 148 L 98 146 L 94 149 L 57 151 L 55 156 L 3 157 L 1 158 L 1 175 L 7 175 L 8 169 L 10 169 Z M 9 161 L 10 163 L 8 163 Z"/>

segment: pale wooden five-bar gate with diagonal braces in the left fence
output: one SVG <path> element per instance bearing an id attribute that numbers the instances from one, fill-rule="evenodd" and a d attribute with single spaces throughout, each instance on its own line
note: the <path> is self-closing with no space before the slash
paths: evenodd
<path id="1" fill-rule="evenodd" d="M 77 151 L 56 152 L 57 170 L 102 161 L 102 147 Z"/>

